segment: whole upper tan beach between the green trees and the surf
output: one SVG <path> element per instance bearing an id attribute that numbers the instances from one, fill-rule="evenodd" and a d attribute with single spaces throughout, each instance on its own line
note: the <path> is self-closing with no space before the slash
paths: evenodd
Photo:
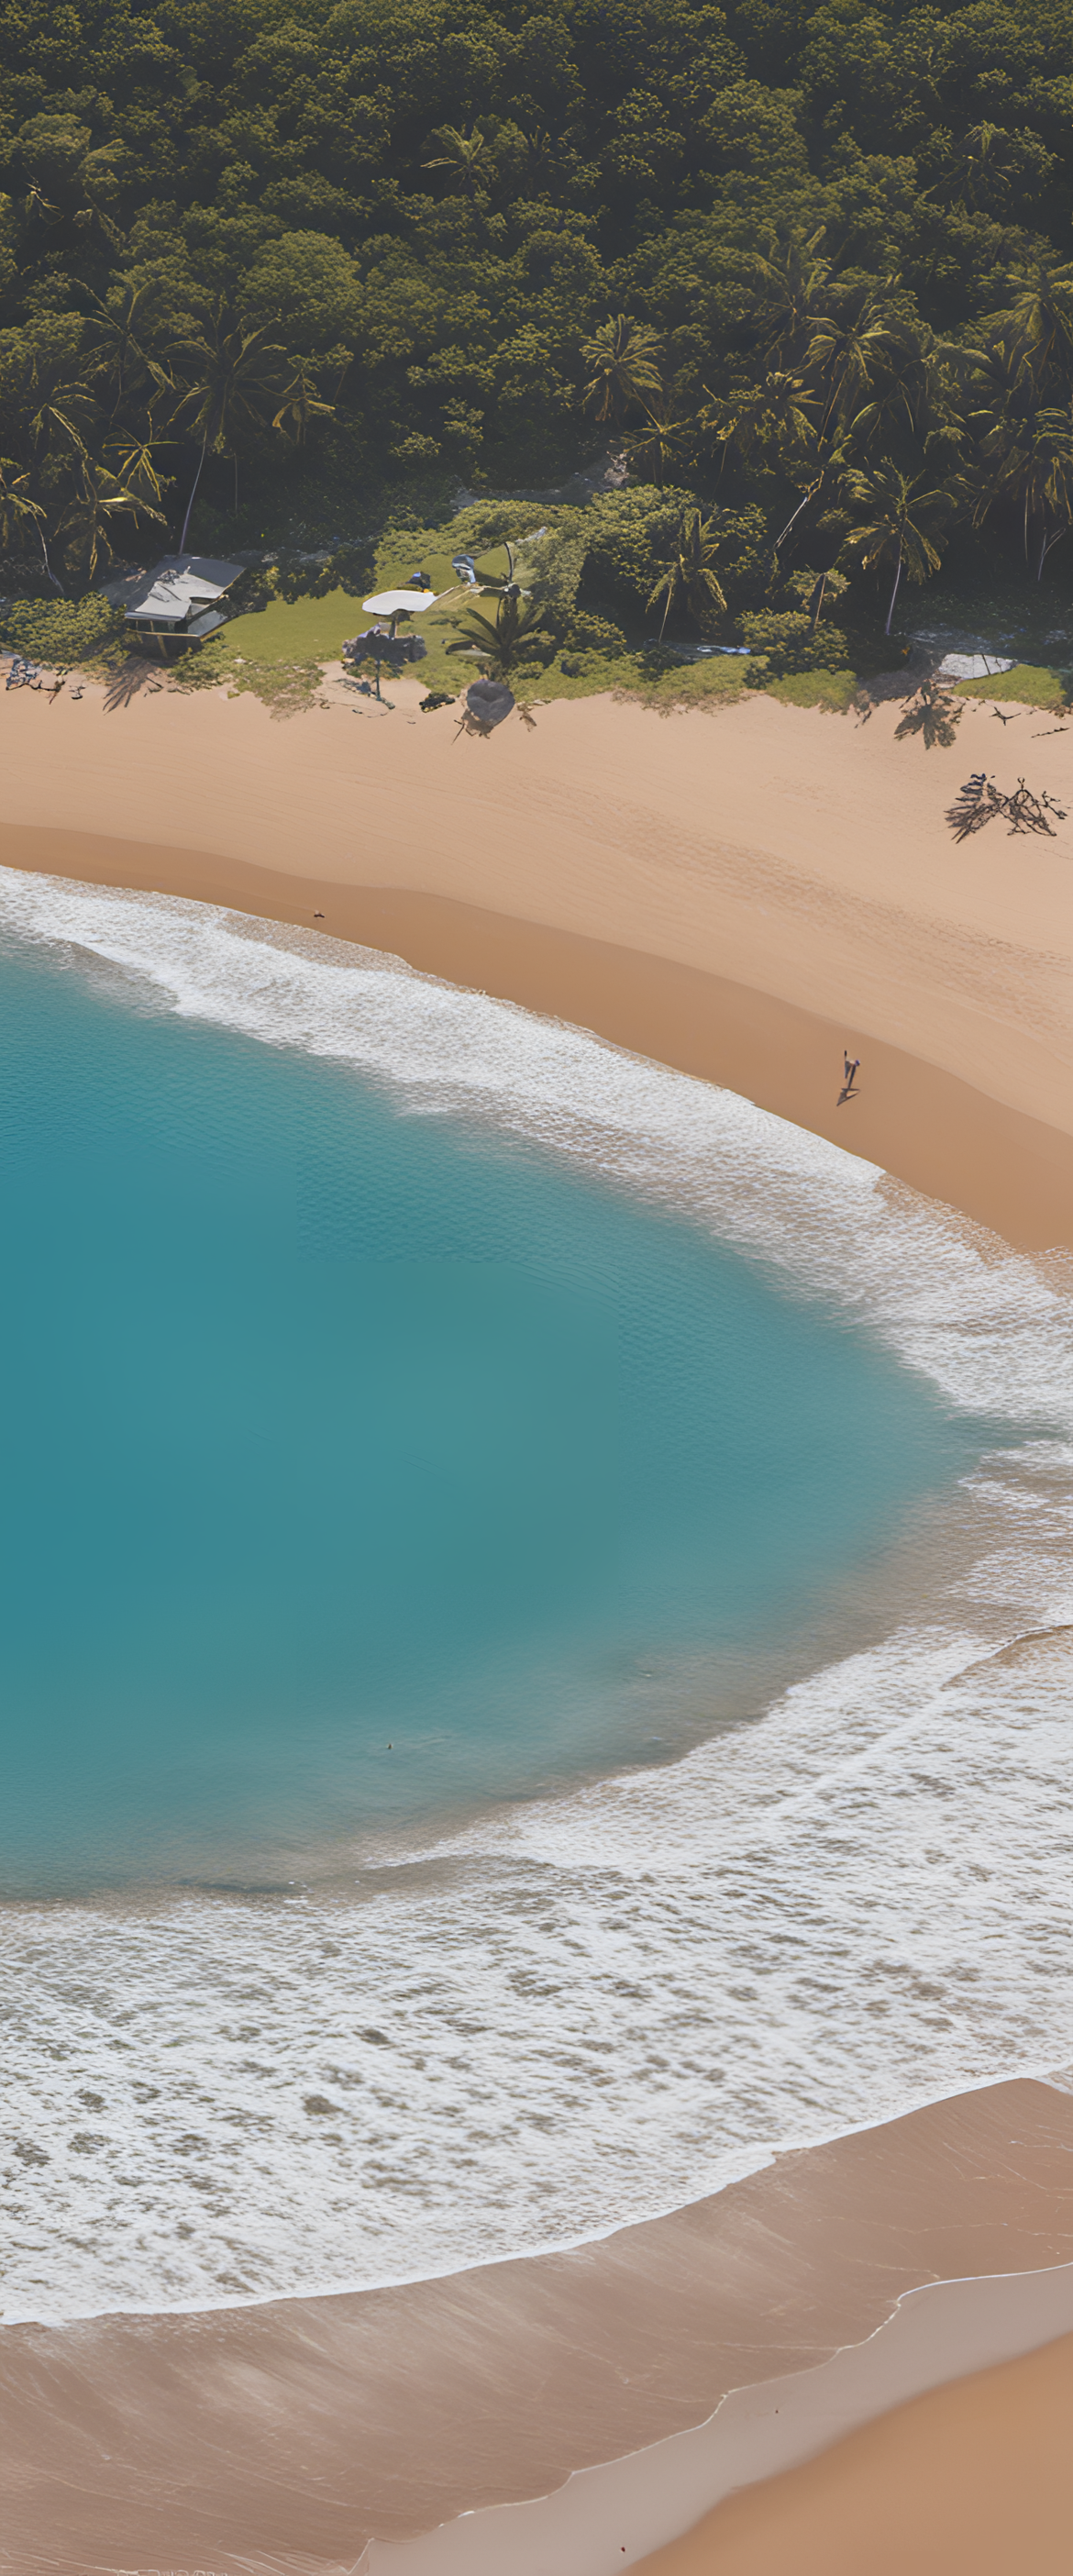
<path id="1" fill-rule="evenodd" d="M 973 701 L 926 752 L 898 706 L 594 698 L 481 742 L 394 696 L 291 721 L 167 688 L 0 696 L 0 858 L 322 914 L 726 1082 L 1009 1242 L 1073 1242 L 1073 819 L 962 845 L 944 822 L 973 768 L 1073 814 L 1073 726 Z"/>

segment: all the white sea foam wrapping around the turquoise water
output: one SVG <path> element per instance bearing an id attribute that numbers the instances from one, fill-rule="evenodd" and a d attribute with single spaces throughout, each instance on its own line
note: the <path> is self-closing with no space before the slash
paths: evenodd
<path id="1" fill-rule="evenodd" d="M 728 1092 L 373 956 L 26 876 L 0 920 L 687 1208 L 1011 1425 L 960 1499 L 975 1553 L 934 1551 L 916 1615 L 682 1762 L 383 1850 L 347 1891 L 10 1909 L 5 2313 L 564 2244 L 1065 2063 L 1058 1280 Z"/>

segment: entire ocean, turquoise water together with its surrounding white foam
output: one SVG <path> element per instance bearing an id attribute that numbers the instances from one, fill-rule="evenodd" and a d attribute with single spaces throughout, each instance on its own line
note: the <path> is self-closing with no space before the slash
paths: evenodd
<path id="1" fill-rule="evenodd" d="M 0 873 L 5 2318 L 1073 2056 L 1070 1293 L 728 1092 Z"/>

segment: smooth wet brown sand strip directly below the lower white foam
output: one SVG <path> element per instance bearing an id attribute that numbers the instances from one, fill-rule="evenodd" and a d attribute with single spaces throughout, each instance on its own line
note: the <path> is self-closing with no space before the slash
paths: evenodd
<path id="1" fill-rule="evenodd" d="M 1068 2262 L 1073 2097 L 1016 2081 L 780 2156 L 566 2254 L 262 2308 L 8 2326 L 8 2563 L 337 2576 L 373 2535 L 548 2494 L 702 2424 L 731 2388 L 826 2362 L 921 2282 Z"/>

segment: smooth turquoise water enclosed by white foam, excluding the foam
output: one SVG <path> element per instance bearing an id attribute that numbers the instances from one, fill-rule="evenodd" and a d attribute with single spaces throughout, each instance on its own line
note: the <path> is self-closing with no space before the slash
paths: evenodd
<path id="1" fill-rule="evenodd" d="M 8 1891 L 674 1752 L 965 1466 L 880 1347 L 535 1149 L 41 951 L 0 1030 Z"/>

